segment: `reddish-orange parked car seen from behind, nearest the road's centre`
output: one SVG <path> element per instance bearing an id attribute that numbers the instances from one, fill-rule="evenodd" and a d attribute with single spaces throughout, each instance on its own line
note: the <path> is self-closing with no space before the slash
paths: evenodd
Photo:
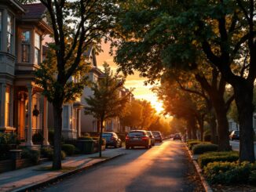
<path id="1" fill-rule="evenodd" d="M 145 147 L 146 149 L 152 147 L 151 138 L 148 136 L 147 131 L 133 130 L 126 136 L 126 150 L 130 147 Z"/>

